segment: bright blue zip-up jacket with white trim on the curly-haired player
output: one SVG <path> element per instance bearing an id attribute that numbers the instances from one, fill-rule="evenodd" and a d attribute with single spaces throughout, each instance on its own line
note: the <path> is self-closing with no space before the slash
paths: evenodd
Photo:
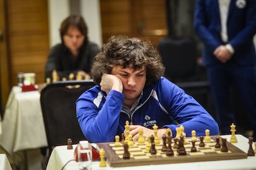
<path id="1" fill-rule="evenodd" d="M 186 136 L 195 130 L 197 136 L 218 135 L 219 127 L 212 116 L 190 95 L 161 78 L 150 87 L 144 87 L 143 95 L 134 111 L 122 110 L 124 94 L 114 90 L 106 95 L 100 86 L 92 87 L 77 99 L 77 119 L 83 134 L 91 142 L 113 142 L 124 132 L 125 122 L 153 129 L 169 127 L 176 136 L 176 127 L 184 126 Z"/>

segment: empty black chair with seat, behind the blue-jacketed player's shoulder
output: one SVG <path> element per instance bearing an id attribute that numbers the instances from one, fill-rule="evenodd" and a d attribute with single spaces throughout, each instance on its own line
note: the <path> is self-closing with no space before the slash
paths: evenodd
<path id="1" fill-rule="evenodd" d="M 188 36 L 168 36 L 158 43 L 165 76 L 194 97 L 214 117 L 210 86 L 205 70 L 197 64 L 197 44 Z"/>

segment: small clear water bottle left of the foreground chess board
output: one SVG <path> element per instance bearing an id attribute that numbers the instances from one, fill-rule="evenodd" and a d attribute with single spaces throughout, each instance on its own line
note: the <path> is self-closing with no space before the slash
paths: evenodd
<path id="1" fill-rule="evenodd" d="M 88 140 L 79 141 L 77 153 L 78 153 L 79 169 L 91 170 L 92 169 L 92 145 L 89 144 Z"/>

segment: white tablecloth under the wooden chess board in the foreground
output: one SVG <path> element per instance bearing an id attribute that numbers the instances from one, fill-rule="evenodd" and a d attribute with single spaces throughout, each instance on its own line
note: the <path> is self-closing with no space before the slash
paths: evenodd
<path id="1" fill-rule="evenodd" d="M 228 141 L 230 140 L 230 135 L 222 136 L 226 138 Z M 247 153 L 249 149 L 248 139 L 241 135 L 236 135 L 238 142 L 234 145 L 240 148 L 242 151 Z M 61 169 L 64 164 L 66 164 L 69 160 L 74 160 L 74 149 L 76 145 L 73 145 L 73 150 L 67 150 L 67 146 L 59 146 L 55 147 L 51 156 L 49 158 L 47 169 Z M 254 147 L 254 146 L 253 146 Z M 148 165 L 148 166 L 132 166 L 132 167 L 124 167 L 124 168 L 99 168 L 99 162 L 93 162 L 93 169 L 202 169 L 202 170 L 210 170 L 210 169 L 256 169 L 256 156 L 248 156 L 247 159 L 239 159 L 239 160 L 223 160 L 223 161 L 204 161 L 204 162 L 194 162 L 194 163 L 175 163 L 175 164 L 158 164 L 158 165 Z M 67 163 L 64 169 L 77 169 L 78 164 L 75 161 L 70 161 Z"/>

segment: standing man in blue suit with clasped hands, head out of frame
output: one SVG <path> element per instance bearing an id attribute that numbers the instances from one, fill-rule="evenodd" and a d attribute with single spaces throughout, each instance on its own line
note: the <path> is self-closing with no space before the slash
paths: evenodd
<path id="1" fill-rule="evenodd" d="M 194 29 L 204 44 L 203 65 L 221 133 L 230 134 L 229 126 L 236 123 L 231 102 L 234 84 L 256 140 L 256 1 L 197 0 Z"/>

